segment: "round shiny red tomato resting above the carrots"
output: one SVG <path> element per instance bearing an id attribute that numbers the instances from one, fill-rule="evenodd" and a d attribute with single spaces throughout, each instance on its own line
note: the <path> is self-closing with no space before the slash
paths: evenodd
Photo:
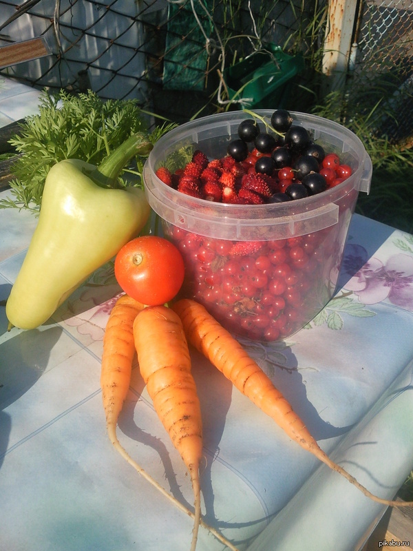
<path id="1" fill-rule="evenodd" d="M 171 242 L 142 236 L 127 242 L 115 258 L 115 277 L 131 298 L 155 306 L 172 300 L 184 280 L 184 261 Z"/>

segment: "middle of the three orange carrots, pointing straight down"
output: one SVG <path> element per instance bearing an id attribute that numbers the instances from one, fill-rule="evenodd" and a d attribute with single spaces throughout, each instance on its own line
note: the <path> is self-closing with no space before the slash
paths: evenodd
<path id="1" fill-rule="evenodd" d="M 191 476 L 195 517 L 191 551 L 201 517 L 202 420 L 191 357 L 179 316 L 167 306 L 149 306 L 134 321 L 140 373 L 153 407 Z"/>

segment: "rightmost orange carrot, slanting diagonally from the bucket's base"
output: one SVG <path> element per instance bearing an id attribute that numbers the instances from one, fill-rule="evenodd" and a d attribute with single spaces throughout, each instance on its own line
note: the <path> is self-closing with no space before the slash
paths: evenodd
<path id="1" fill-rule="evenodd" d="M 332 461 L 321 450 L 304 422 L 293 411 L 286 398 L 275 388 L 260 366 L 248 356 L 241 344 L 207 312 L 204 306 L 193 300 L 182 299 L 173 304 L 172 308 L 178 313 L 187 339 L 195 349 L 206 356 L 211 364 L 231 380 L 234 386 L 251 399 L 257 407 L 272 417 L 291 439 L 323 461 L 332 470 L 343 475 L 373 501 L 394 507 L 413 506 L 412 501 L 390 501 L 375 496 L 359 484 L 345 469 Z"/>

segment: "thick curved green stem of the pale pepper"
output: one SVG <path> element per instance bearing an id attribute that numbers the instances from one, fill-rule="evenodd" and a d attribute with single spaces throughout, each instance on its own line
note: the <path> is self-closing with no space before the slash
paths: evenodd
<path id="1" fill-rule="evenodd" d="M 136 155 L 146 156 L 151 151 L 153 145 L 149 141 L 147 134 L 136 132 L 116 147 L 102 163 L 87 176 L 91 178 L 96 185 L 100 187 L 121 187 L 118 183 L 120 171 L 129 163 L 129 160 Z"/>

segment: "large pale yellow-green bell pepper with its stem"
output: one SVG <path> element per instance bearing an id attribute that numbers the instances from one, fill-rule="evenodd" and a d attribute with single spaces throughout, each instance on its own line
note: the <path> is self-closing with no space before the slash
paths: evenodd
<path id="1" fill-rule="evenodd" d="M 136 237 L 149 218 L 144 191 L 118 175 L 152 145 L 138 132 L 98 166 L 67 159 L 45 181 L 39 222 L 6 302 L 9 329 L 34 329 L 98 267 Z"/>

